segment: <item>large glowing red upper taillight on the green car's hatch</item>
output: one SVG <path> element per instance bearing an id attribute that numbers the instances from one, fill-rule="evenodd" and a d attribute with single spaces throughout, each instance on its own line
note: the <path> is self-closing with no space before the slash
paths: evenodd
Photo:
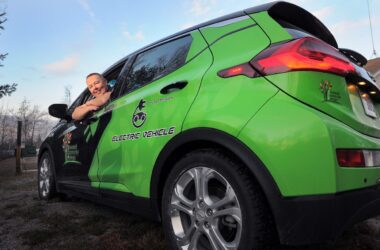
<path id="1" fill-rule="evenodd" d="M 273 45 L 250 63 L 262 75 L 311 70 L 345 76 L 355 72 L 354 65 L 337 49 L 312 37 Z"/>

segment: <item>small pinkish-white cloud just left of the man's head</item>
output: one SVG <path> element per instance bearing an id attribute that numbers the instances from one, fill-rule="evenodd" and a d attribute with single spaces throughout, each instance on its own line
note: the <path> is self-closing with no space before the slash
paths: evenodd
<path id="1" fill-rule="evenodd" d="M 43 65 L 43 69 L 50 74 L 63 75 L 72 73 L 79 64 L 79 55 L 68 55 L 62 60 Z"/>

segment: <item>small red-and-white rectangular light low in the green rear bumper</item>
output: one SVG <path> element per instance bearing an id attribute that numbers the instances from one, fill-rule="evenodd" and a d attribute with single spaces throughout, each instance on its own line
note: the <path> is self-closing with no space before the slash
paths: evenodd
<path id="1" fill-rule="evenodd" d="M 379 150 L 337 149 L 336 156 L 342 167 L 380 166 Z"/>

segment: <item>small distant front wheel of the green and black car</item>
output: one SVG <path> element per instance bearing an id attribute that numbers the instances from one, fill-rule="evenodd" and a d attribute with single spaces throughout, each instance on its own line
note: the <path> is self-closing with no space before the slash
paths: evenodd
<path id="1" fill-rule="evenodd" d="M 38 195 L 42 200 L 50 200 L 56 194 L 53 161 L 48 152 L 43 153 L 38 163 Z"/>

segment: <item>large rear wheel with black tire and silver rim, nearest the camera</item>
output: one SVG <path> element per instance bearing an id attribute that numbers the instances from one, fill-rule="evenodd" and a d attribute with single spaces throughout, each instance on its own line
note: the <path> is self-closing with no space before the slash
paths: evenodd
<path id="1" fill-rule="evenodd" d="M 258 184 L 244 166 L 212 149 L 175 164 L 164 186 L 162 220 L 171 249 L 268 249 L 277 242 Z"/>

